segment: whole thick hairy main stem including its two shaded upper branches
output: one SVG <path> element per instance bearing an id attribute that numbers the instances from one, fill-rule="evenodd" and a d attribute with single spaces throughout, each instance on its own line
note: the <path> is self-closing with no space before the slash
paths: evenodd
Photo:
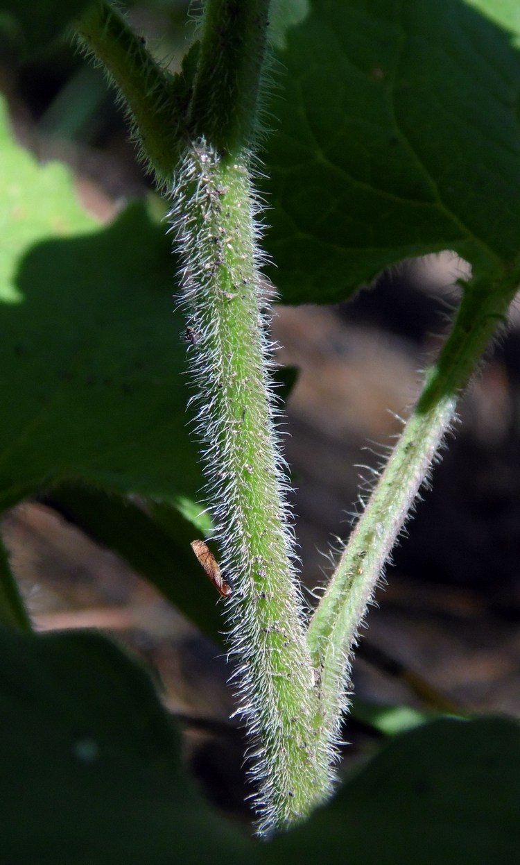
<path id="1" fill-rule="evenodd" d="M 231 654 L 253 739 L 262 832 L 307 816 L 330 789 L 328 755 L 315 747 L 317 696 L 276 447 L 268 298 L 250 183 L 268 6 L 207 0 L 181 157 L 178 125 L 173 119 L 172 134 L 163 110 L 168 82 L 124 22 L 101 3 L 78 26 L 128 101 L 160 179 L 175 167 L 171 221 L 183 263 L 206 477 L 233 587 Z M 147 81 L 158 93 L 158 112 L 149 111 Z"/>

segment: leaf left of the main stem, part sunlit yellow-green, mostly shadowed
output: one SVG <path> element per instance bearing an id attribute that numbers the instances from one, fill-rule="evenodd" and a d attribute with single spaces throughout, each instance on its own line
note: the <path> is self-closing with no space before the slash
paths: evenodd
<path id="1" fill-rule="evenodd" d="M 0 134 L 0 507 L 71 478 L 196 499 L 164 228 L 135 204 L 99 230 L 66 169 Z"/>

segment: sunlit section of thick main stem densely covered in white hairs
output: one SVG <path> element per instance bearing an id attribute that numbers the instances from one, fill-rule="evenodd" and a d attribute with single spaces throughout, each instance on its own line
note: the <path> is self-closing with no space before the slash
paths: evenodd
<path id="1" fill-rule="evenodd" d="M 172 222 L 184 264 L 208 495 L 232 586 L 231 656 L 253 737 L 251 775 L 264 833 L 306 817 L 327 797 L 330 780 L 327 754 L 314 744 L 318 707 L 266 371 L 267 298 L 251 195 L 244 164 L 200 143 L 187 154 Z"/>

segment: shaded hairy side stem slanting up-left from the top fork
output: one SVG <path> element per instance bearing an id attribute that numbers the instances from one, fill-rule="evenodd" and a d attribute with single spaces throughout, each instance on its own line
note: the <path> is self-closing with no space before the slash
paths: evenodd
<path id="1" fill-rule="evenodd" d="M 122 97 L 132 138 L 154 171 L 156 183 L 171 185 L 185 143 L 187 84 L 158 66 L 106 0 L 88 6 L 74 29 L 79 45 L 96 57 Z"/>

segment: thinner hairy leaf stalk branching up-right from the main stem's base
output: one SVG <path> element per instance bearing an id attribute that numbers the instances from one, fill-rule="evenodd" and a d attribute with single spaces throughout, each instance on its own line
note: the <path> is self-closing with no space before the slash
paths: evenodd
<path id="1" fill-rule="evenodd" d="M 337 736 L 358 627 L 365 617 L 384 563 L 428 477 L 441 441 L 453 422 L 457 396 L 514 296 L 518 266 L 466 285 L 453 330 L 428 371 L 414 413 L 366 503 L 327 591 L 308 628 L 308 647 L 320 667 L 320 734 Z"/>

